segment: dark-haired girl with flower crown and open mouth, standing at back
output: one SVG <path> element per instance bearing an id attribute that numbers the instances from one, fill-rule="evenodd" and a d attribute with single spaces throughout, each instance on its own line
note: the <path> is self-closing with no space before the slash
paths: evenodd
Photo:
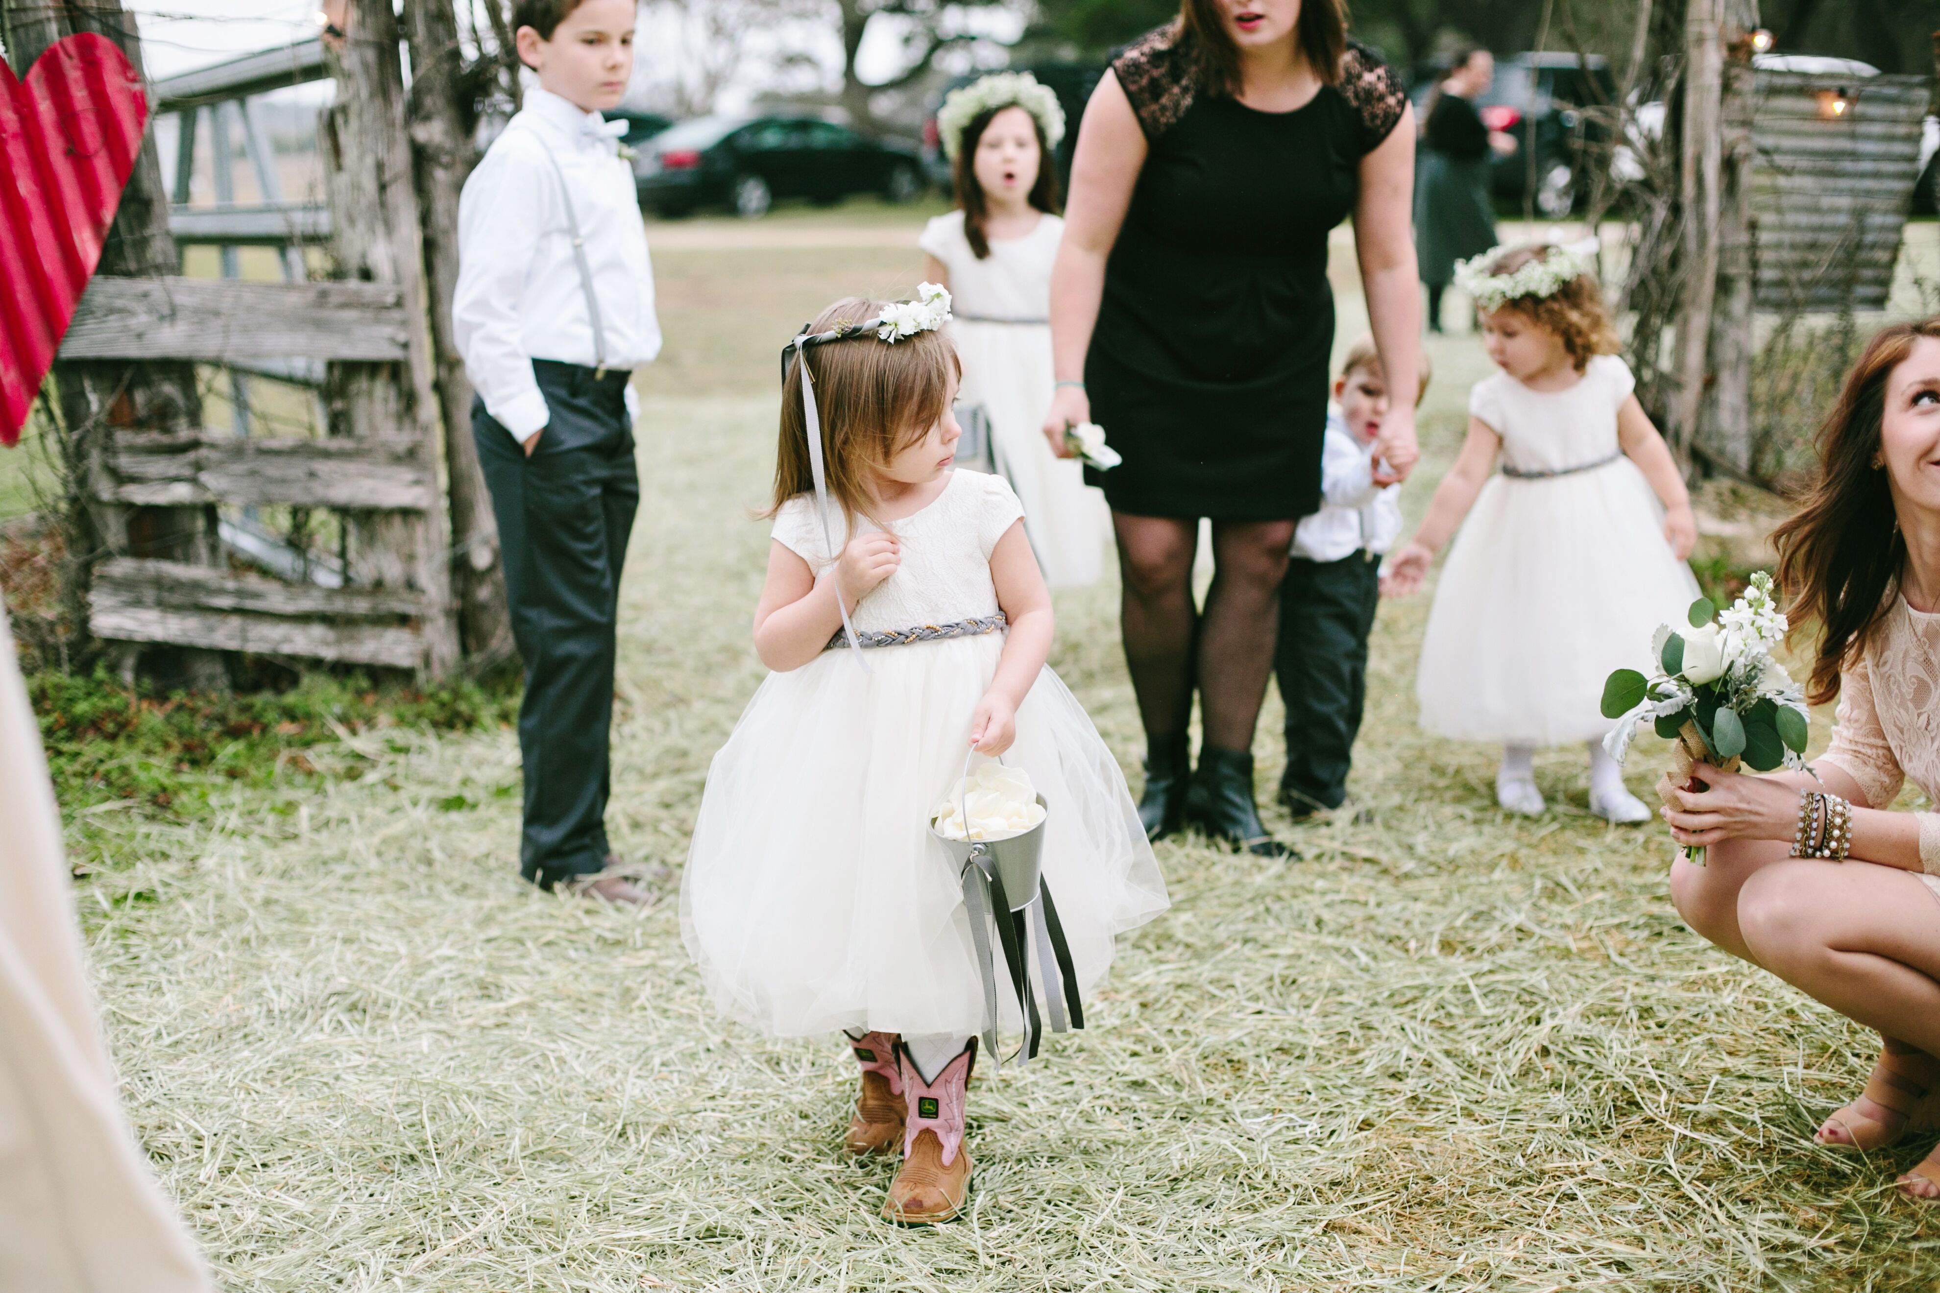
<path id="1" fill-rule="evenodd" d="M 997 72 L 951 91 L 937 132 L 956 169 L 956 207 L 923 229 L 927 273 L 954 297 L 951 331 L 964 361 L 960 399 L 989 419 L 997 471 L 1024 504 L 1044 582 L 1098 582 L 1104 496 L 1084 465 L 1044 438 L 1051 374 L 1051 262 L 1057 215 L 1051 149 L 1065 134 L 1057 95 L 1028 72 Z"/>

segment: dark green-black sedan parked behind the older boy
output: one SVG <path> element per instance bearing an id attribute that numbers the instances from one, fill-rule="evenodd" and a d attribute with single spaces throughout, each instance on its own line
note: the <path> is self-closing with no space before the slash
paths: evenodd
<path id="1" fill-rule="evenodd" d="M 658 215 L 728 205 L 757 219 L 780 198 L 916 202 L 923 194 L 914 149 L 815 116 L 696 116 L 648 140 L 634 176 L 640 205 Z"/>

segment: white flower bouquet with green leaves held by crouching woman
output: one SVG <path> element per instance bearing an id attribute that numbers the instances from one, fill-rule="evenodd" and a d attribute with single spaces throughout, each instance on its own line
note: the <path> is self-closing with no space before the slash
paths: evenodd
<path id="1" fill-rule="evenodd" d="M 1771 657 L 1787 628 L 1771 576 L 1754 574 L 1723 613 L 1699 597 L 1688 618 L 1690 632 L 1665 624 L 1651 638 L 1661 675 L 1618 669 L 1604 682 L 1602 715 L 1616 727 L 1602 748 L 1622 764 L 1637 723 L 1651 719 L 1659 737 L 1678 742 L 1676 764 L 1686 775 L 1698 762 L 1725 772 L 1736 772 L 1740 762 L 1754 772 L 1804 768 L 1810 717 L 1804 692 Z M 1703 849 L 1684 855 L 1703 865 Z"/>

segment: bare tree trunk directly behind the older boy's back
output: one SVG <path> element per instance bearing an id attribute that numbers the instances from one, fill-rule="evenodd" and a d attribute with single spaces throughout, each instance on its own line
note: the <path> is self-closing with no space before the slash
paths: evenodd
<path id="1" fill-rule="evenodd" d="M 452 335 L 458 291 L 458 194 L 477 165 L 469 130 L 469 78 L 458 47 L 452 0 L 404 6 L 411 48 L 411 159 L 425 233 L 425 287 L 438 405 L 444 409 L 444 467 L 450 473 L 452 583 L 458 636 L 473 669 L 510 659 L 512 616 L 506 609 L 499 525 L 471 440 L 471 380 Z"/>

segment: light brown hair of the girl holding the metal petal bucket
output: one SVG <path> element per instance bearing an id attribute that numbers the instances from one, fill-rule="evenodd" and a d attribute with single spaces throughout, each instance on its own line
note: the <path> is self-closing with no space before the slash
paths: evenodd
<path id="1" fill-rule="evenodd" d="M 832 331 L 883 312 L 877 300 L 848 297 L 823 310 L 809 331 Z M 887 465 L 916 444 L 947 409 L 951 382 L 962 374 L 956 347 L 941 331 L 920 331 L 890 345 L 875 331 L 811 345 L 803 357 L 815 378 L 815 411 L 823 425 L 823 479 L 842 508 L 848 531 L 869 514 L 875 494 L 869 469 Z M 782 442 L 774 454 L 774 516 L 797 494 L 815 490 L 809 467 L 807 415 L 801 409 L 801 359 L 782 382 Z"/>

